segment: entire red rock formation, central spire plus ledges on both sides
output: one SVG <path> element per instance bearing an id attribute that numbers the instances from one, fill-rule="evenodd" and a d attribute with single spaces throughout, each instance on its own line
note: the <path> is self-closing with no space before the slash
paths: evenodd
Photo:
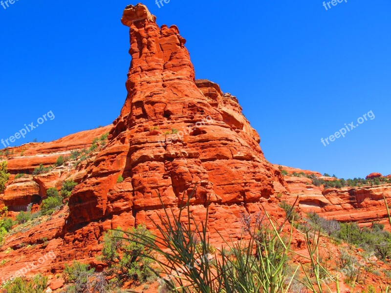
<path id="1" fill-rule="evenodd" d="M 182 196 L 186 200 L 195 185 L 191 211 L 196 220 L 204 220 L 209 204 L 211 243 L 215 244 L 221 242 L 217 231 L 227 239 L 239 237 L 241 213 L 258 212 L 262 205 L 281 219 L 284 213 L 278 203 L 293 203 L 296 197 L 303 213 L 315 210 L 361 225 L 384 221 L 382 194 L 390 198 L 391 185 L 324 190 L 309 178 L 292 176 L 303 172 L 321 177 L 319 172 L 267 162 L 260 136 L 243 116 L 238 99 L 211 81 L 195 80 L 178 28 L 159 28 L 155 21 L 141 4 L 124 11 L 122 23 L 130 27 L 132 61 L 128 95 L 113 125 L 51 143 L 10 148 L 14 153 L 8 159 L 12 176 L 0 194 L 0 208 L 8 206 L 10 216 L 28 204 L 39 204 L 47 188 L 60 189 L 69 179 L 79 185 L 68 206 L 27 232 L 7 237 L 0 248 L 0 259 L 8 260 L 0 267 L 0 278 L 48 251 L 56 258 L 31 275 L 61 272 L 73 259 L 101 268 L 95 256 L 102 249 L 105 231 L 141 223 L 152 229 L 150 218 L 157 221 L 157 214 L 163 212 L 158 195 L 177 213 Z M 40 164 L 53 165 L 60 155 L 88 148 L 94 138 L 107 132 L 108 143 L 77 167 L 72 161 L 31 175 Z M 280 168 L 289 175 L 283 177 Z M 27 175 L 15 179 L 18 173 Z M 122 183 L 117 183 L 119 175 L 124 178 Z M 53 287 L 57 283 L 53 281 Z"/>

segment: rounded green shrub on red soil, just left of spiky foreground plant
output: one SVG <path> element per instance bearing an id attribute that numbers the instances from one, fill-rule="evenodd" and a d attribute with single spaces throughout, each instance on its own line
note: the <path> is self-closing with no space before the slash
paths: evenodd
<path id="1" fill-rule="evenodd" d="M 154 239 L 152 233 L 141 225 L 127 232 L 110 230 L 104 235 L 102 260 L 108 265 L 107 274 L 115 273 L 120 282 L 128 278 L 145 281 L 152 275 L 152 250 L 137 243 L 133 234 Z"/>

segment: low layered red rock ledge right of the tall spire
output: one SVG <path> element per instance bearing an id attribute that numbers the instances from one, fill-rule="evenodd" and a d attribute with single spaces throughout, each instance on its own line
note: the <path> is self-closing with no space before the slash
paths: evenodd
<path id="1" fill-rule="evenodd" d="M 325 180 L 331 177 L 319 178 Z M 385 196 L 390 201 L 391 184 L 325 189 L 323 185 L 314 186 L 311 179 L 303 176 L 284 176 L 284 180 L 289 193 L 283 194 L 281 199 L 292 205 L 298 198 L 297 206 L 303 215 L 315 211 L 322 217 L 356 222 L 360 226 L 370 226 L 372 221 L 379 221 L 385 224 L 385 229 L 391 230 L 383 199 Z"/>

